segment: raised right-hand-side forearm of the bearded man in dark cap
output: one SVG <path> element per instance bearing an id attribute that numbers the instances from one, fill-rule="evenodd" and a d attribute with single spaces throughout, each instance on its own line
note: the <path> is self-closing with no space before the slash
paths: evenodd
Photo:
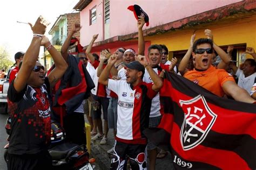
<path id="1" fill-rule="evenodd" d="M 145 56 L 138 55 L 136 59 L 146 68 L 147 72 L 149 73 L 151 80 L 154 83 L 152 89 L 154 91 L 159 91 L 160 88 L 163 86 L 163 81 L 161 80 L 161 77 L 159 77 L 157 73 L 154 72 L 153 68 L 150 66 L 150 62 L 147 61 Z"/>

